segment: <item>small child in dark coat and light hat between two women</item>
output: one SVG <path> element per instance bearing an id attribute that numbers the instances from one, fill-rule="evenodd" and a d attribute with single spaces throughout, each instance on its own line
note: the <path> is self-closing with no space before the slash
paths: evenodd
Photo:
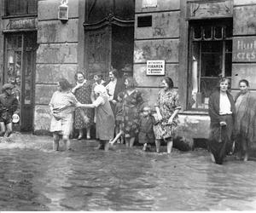
<path id="1" fill-rule="evenodd" d="M 139 143 L 143 143 L 143 151 L 149 148 L 149 144 L 154 143 L 154 130 L 155 118 L 151 114 L 150 107 L 143 107 L 143 115 L 140 118 L 140 127 L 138 140 Z"/>

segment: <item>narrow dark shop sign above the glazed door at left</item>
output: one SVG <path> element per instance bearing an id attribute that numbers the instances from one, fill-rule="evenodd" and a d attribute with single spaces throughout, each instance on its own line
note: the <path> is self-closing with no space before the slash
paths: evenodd
<path id="1" fill-rule="evenodd" d="M 36 20 L 35 19 L 9 20 L 9 23 L 6 26 L 6 28 L 8 30 L 33 29 L 33 28 L 36 28 Z"/>

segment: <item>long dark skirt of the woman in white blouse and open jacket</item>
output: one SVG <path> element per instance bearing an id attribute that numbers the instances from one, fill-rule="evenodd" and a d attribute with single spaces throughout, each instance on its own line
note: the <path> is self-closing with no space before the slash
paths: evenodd
<path id="1" fill-rule="evenodd" d="M 233 118 L 232 115 L 223 115 L 226 126 L 211 125 L 208 142 L 209 151 L 213 154 L 216 164 L 223 164 L 224 157 L 232 148 Z"/>

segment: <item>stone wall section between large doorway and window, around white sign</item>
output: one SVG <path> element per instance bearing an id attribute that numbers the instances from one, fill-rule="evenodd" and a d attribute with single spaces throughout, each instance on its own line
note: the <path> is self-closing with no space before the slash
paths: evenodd
<path id="1" fill-rule="evenodd" d="M 166 76 L 177 88 L 179 45 L 179 0 L 157 1 L 157 7 L 143 8 L 143 0 L 136 1 L 134 77 L 143 98 L 153 107 L 162 76 L 147 76 L 147 60 L 165 60 Z M 152 26 L 138 27 L 137 18 L 152 15 Z"/>

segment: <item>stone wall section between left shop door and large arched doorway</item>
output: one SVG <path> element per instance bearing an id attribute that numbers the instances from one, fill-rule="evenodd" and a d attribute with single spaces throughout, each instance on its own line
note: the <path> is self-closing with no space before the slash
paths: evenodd
<path id="1" fill-rule="evenodd" d="M 49 101 L 59 78 L 74 83 L 78 70 L 79 0 L 68 1 L 66 23 L 58 20 L 60 0 L 38 2 L 38 52 L 35 79 L 34 132 L 49 131 Z"/>

